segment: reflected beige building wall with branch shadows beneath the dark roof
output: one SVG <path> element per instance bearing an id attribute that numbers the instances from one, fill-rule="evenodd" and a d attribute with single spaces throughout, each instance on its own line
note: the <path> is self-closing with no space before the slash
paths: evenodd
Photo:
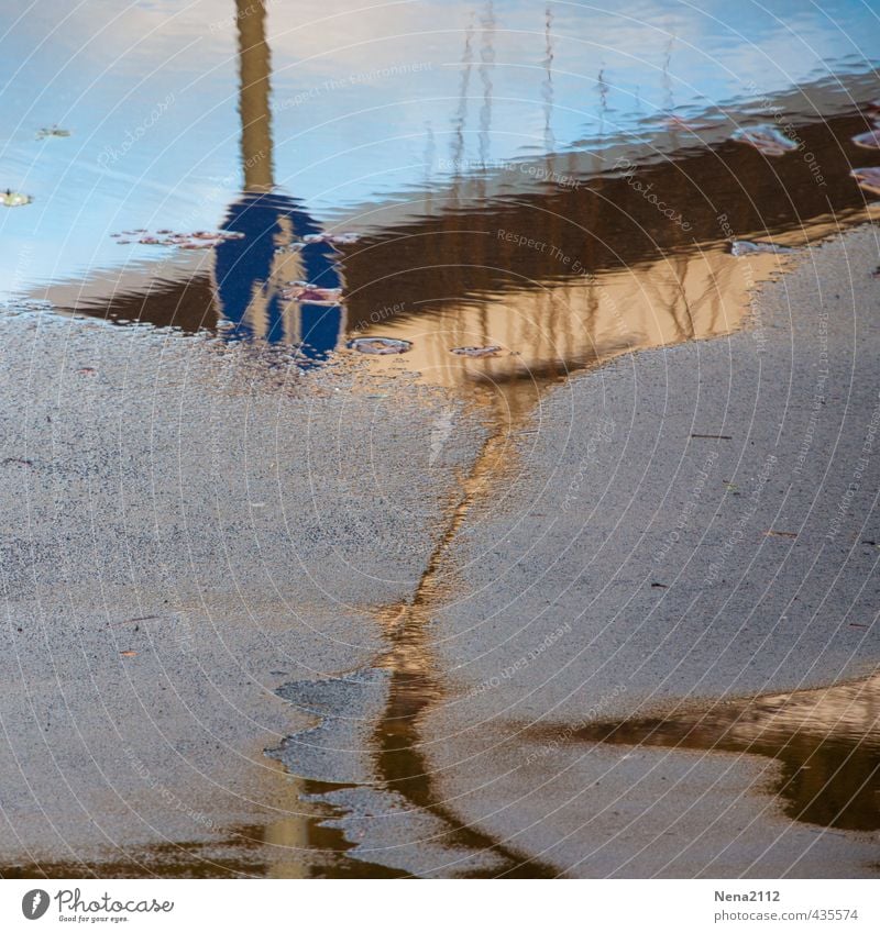
<path id="1" fill-rule="evenodd" d="M 510 284 L 479 302 L 447 300 L 442 310 L 398 314 L 362 332 L 413 342 L 405 357 L 378 366 L 416 369 L 450 387 L 492 384 L 508 399 L 520 390 L 532 398 L 536 382 L 624 353 L 730 333 L 748 311 L 749 286 L 776 269 L 779 258 L 735 259 L 715 247 L 600 278 Z M 492 358 L 450 352 L 490 344 L 502 347 Z"/>

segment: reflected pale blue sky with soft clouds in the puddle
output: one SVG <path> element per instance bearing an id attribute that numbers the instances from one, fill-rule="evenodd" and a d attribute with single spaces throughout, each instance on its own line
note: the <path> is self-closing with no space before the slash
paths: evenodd
<path id="1" fill-rule="evenodd" d="M 880 37 L 877 5 L 857 0 L 553 2 L 551 87 L 541 2 L 346 14 L 356 5 L 268 4 L 275 178 L 319 219 L 439 182 L 453 154 L 534 156 L 548 113 L 558 148 L 590 147 L 645 130 L 670 104 L 703 110 L 865 71 Z M 240 185 L 233 11 L 229 0 L 41 0 L 9 29 L 0 185 L 35 202 L 0 213 L 3 291 L 162 254 L 113 244 L 120 229 L 221 223 Z M 75 135 L 36 142 L 53 122 Z"/>

